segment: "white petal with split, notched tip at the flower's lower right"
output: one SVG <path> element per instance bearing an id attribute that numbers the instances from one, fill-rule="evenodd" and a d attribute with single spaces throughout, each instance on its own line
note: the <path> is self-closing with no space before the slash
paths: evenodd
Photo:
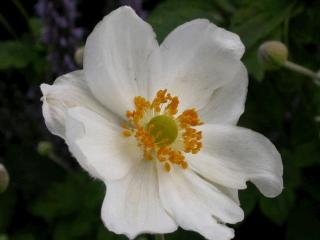
<path id="1" fill-rule="evenodd" d="M 222 223 L 243 219 L 237 203 L 191 170 L 173 168 L 168 173 L 159 168 L 158 174 L 161 201 L 179 226 L 207 239 L 234 236 L 233 230 Z"/>

